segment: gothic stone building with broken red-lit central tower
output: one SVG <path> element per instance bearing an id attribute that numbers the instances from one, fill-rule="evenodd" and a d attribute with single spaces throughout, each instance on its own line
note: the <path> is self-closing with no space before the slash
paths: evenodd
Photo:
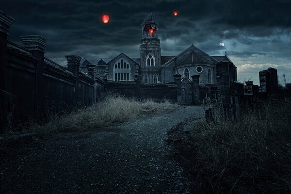
<path id="1" fill-rule="evenodd" d="M 97 65 L 97 76 L 107 78 L 108 81 L 133 81 L 134 75 L 140 75 L 145 84 L 169 83 L 174 82 L 173 74 L 181 74 L 190 81 L 191 76 L 200 75 L 200 83 L 211 84 L 216 83 L 217 63 L 231 62 L 227 55 L 210 56 L 193 44 L 177 56 L 161 56 L 158 27 L 155 16 L 147 14 L 141 24 L 139 58 L 132 58 L 124 53 L 112 59 L 83 58 L 80 70 L 86 73 L 86 65 Z"/>

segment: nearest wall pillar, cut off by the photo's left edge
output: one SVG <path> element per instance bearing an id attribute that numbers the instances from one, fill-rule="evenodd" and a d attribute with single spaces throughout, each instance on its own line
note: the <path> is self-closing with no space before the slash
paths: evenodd
<path id="1" fill-rule="evenodd" d="M 11 111 L 7 108 L 8 99 L 4 93 L 7 89 L 7 37 L 14 21 L 15 19 L 0 11 L 0 129 L 4 129 L 8 111 Z"/>

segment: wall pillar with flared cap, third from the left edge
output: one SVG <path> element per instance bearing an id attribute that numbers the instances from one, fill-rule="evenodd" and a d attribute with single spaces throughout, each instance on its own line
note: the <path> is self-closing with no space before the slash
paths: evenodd
<path id="1" fill-rule="evenodd" d="M 78 55 L 66 55 L 67 65 L 69 71 L 71 71 L 76 77 L 75 83 L 75 101 L 79 102 L 79 67 L 81 62 L 81 57 Z"/>

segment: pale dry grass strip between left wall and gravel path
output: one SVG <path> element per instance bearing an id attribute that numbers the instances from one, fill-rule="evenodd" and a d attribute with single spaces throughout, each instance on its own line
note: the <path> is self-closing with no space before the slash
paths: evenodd
<path id="1" fill-rule="evenodd" d="M 93 130 L 129 121 L 140 114 L 171 110 L 177 107 L 177 104 L 172 104 L 167 100 L 157 103 L 149 99 L 137 101 L 133 98 L 108 96 L 90 107 L 81 108 L 71 113 L 63 113 L 62 115 L 51 115 L 47 124 L 34 124 L 29 130 L 45 134 Z"/>

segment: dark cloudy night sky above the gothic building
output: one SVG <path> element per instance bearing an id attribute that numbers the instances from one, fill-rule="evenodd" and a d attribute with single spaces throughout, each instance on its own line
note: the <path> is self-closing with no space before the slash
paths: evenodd
<path id="1" fill-rule="evenodd" d="M 16 19 L 9 40 L 21 44 L 20 35 L 42 35 L 46 57 L 61 65 L 70 54 L 139 57 L 140 24 L 152 12 L 162 55 L 193 43 L 210 55 L 227 51 L 239 81 L 259 84 L 259 71 L 275 67 L 280 84 L 283 73 L 291 82 L 291 0 L 1 0 L 0 10 Z M 109 23 L 102 23 L 103 14 Z"/>

